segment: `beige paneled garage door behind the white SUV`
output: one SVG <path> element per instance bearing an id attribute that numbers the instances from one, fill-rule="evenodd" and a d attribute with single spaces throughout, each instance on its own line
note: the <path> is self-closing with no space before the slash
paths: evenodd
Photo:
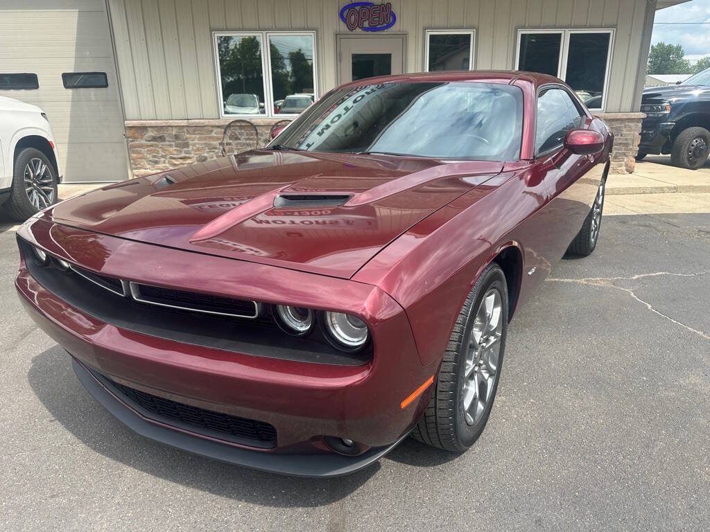
<path id="1" fill-rule="evenodd" d="M 0 1 L 0 72 L 37 74 L 38 89 L 0 95 L 48 114 L 65 182 L 126 179 L 124 121 L 103 0 Z M 75 72 L 105 72 L 108 87 L 65 88 L 62 74 Z M 66 79 L 96 85 L 102 76 Z"/>

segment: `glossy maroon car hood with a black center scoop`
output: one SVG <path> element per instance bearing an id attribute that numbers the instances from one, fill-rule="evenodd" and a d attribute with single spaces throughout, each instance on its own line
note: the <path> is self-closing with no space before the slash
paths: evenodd
<path id="1" fill-rule="evenodd" d="M 349 278 L 502 168 L 255 150 L 97 189 L 45 216 L 120 238 Z"/>

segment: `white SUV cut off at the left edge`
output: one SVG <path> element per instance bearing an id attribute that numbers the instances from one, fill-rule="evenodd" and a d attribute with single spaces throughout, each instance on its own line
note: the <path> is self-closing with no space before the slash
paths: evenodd
<path id="1" fill-rule="evenodd" d="M 55 204 L 58 160 L 42 109 L 0 96 L 0 209 L 23 221 Z"/>

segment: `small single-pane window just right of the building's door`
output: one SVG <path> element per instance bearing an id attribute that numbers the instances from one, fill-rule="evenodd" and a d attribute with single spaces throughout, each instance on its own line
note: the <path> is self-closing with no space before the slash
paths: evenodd
<path id="1" fill-rule="evenodd" d="M 427 30 L 424 70 L 473 70 L 474 30 Z"/>

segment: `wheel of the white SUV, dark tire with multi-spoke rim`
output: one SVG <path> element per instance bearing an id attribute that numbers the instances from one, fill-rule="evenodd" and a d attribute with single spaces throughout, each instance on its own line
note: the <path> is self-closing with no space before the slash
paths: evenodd
<path id="1" fill-rule="evenodd" d="M 4 207 L 17 221 L 57 202 L 57 174 L 47 156 L 35 148 L 25 148 L 15 159 L 10 198 Z"/>

